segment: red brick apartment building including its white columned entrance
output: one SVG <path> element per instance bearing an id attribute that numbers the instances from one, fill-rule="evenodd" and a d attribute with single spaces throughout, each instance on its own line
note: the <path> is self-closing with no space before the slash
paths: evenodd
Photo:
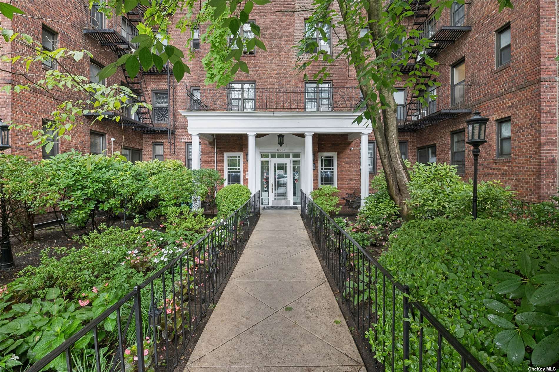
<path id="1" fill-rule="evenodd" d="M 99 68 L 134 49 L 130 40 L 141 12 L 105 19 L 91 12 L 87 1 L 14 1 L 25 11 L 12 21 L 0 18 L 6 29 L 26 32 L 45 48 L 87 49 L 94 58 L 64 61 L 64 68 L 91 78 Z M 179 159 L 188 167 L 216 168 L 228 183 L 243 183 L 262 192 L 263 205 L 299 203 L 299 191 L 337 185 L 343 194 L 366 195 L 368 180 L 381 171 L 371 128 L 352 124 L 359 90 L 354 69 L 339 59 L 325 67 L 328 82 L 305 82 L 293 69 L 296 45 L 305 29 L 304 1 L 274 1 L 255 7 L 250 20 L 261 27 L 267 51 L 245 54 L 250 74 L 238 72 L 226 88 L 206 86 L 201 59 L 209 45 L 190 33 L 173 30 L 173 45 L 195 49 L 188 62 L 191 74 L 174 82 L 166 69 L 144 71 L 130 79 L 119 70 L 106 84 L 121 83 L 153 105 L 153 110 L 115 121 L 83 116 L 72 130 L 72 140 L 60 139 L 51 154 L 71 148 L 83 152 L 121 151 L 130 160 Z M 414 2 L 416 20 L 434 41 L 425 51 L 439 63 L 437 100 L 420 107 L 405 90 L 395 93 L 399 103 L 400 147 L 411 162 L 456 164 L 472 176 L 472 156 L 464 143 L 465 119 L 479 110 L 489 117 L 487 143 L 481 147 L 481 180 L 501 180 L 524 200 L 545 200 L 557 193 L 558 88 L 557 7 L 553 1 L 514 1 L 514 10 L 498 12 L 496 2 L 455 4 L 439 20 L 430 18 L 425 2 Z M 195 35 L 206 29 L 190 30 Z M 247 31 L 248 32 L 248 31 Z M 337 29 L 337 32 L 343 32 Z M 248 32 L 249 33 L 249 32 Z M 250 36 L 250 35 L 247 35 Z M 320 48 L 336 54 L 337 36 Z M 21 45 L 2 45 L 2 54 Z M 20 52 L 21 53 L 21 52 Z M 186 54 L 186 53 L 185 53 Z M 415 62 L 415 61 L 412 61 Z M 322 62 L 312 71 L 324 67 Z M 48 66 L 33 65 L 44 74 Z M 25 84 L 21 64 L 2 63 L 0 83 Z M 2 93 L 3 94 L 3 93 Z M 68 94 L 68 93 L 65 93 Z M 54 97 L 53 97 L 54 96 Z M 63 92 L 31 88 L 0 95 L 1 119 L 41 128 Z M 278 135 L 283 135 L 279 145 Z M 8 153 L 32 159 L 49 157 L 30 146 L 31 129 L 13 130 Z M 363 169 L 363 172 L 361 172 Z M 270 178 L 274 178 L 275 190 Z"/>

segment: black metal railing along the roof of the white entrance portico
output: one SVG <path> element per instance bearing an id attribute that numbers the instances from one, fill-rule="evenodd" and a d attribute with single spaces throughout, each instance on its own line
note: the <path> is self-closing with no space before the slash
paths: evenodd
<path id="1" fill-rule="evenodd" d="M 206 88 L 187 92 L 188 111 L 354 111 L 362 102 L 356 87 Z"/>

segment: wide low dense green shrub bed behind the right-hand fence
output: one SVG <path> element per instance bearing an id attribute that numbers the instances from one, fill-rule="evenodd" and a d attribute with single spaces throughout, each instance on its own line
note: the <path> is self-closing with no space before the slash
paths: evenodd
<path id="1" fill-rule="evenodd" d="M 524 223 L 435 218 L 413 220 L 396 230 L 390 238 L 389 249 L 381 255 L 379 262 L 398 281 L 408 284 L 411 297 L 424 303 L 488 369 L 523 371 L 527 370 L 526 362 L 520 366 L 511 365 L 493 342 L 498 330 L 487 318 L 489 312 L 484 304 L 484 299 L 495 295 L 493 284 L 496 281 L 490 275 L 497 271 L 515 272 L 523 253 L 545 266 L 557 255 L 558 247 L 557 232 L 530 228 Z M 390 306 L 386 304 L 386 308 Z M 401 305 L 397 309 L 396 323 L 401 324 Z M 386 312 L 386 315 L 386 324 L 390 324 L 391 313 Z M 418 342 L 418 315 L 415 316 L 411 325 L 412 348 Z M 375 328 L 378 341 L 373 333 L 369 334 L 373 350 L 387 345 L 391 347 L 388 333 L 382 336 L 382 326 Z M 401 332 L 399 329 L 396 327 L 396 332 Z M 429 342 L 432 345 L 430 351 L 424 354 L 424 365 L 434 365 L 437 335 L 432 327 L 425 328 L 424 332 L 426 340 L 432 340 Z M 399 352 L 396 352 L 395 362 L 397 369 L 401 369 L 401 346 L 398 344 L 396 348 Z M 458 366 L 459 358 L 455 359 L 456 355 L 452 353 L 452 349 L 445 347 L 443 360 L 458 361 Z M 378 357 L 384 358 L 380 354 Z M 412 359 L 411 366 L 416 368 L 416 355 Z M 390 361 L 390 355 L 386 360 Z M 458 369 L 447 364 L 445 370 Z"/>

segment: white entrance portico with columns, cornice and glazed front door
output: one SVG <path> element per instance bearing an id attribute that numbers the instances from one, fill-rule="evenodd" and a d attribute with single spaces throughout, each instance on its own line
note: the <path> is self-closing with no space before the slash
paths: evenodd
<path id="1" fill-rule="evenodd" d="M 181 111 L 192 136 L 192 167 L 200 168 L 198 138 L 214 141 L 214 135 L 248 136 L 248 174 L 251 192 L 260 190 L 262 205 L 299 205 L 300 191 L 313 189 L 313 135 L 336 134 L 348 142 L 361 139 L 361 199 L 368 195 L 368 135 L 371 125 L 357 125 L 358 114 L 330 112 Z M 278 134 L 284 144 L 278 145 Z M 258 137 L 258 138 L 257 138 Z M 316 154 L 318 155 L 318 154 Z M 241 155 L 242 156 L 242 155 Z M 241 159 L 242 162 L 243 159 Z M 357 164 L 356 164 L 357 165 Z M 352 170 L 357 171 L 355 167 Z M 244 174 L 241 174 L 242 178 Z M 245 178 L 246 179 L 246 178 Z M 245 183 L 246 185 L 247 183 Z M 363 203 L 362 203 L 363 205 Z"/>

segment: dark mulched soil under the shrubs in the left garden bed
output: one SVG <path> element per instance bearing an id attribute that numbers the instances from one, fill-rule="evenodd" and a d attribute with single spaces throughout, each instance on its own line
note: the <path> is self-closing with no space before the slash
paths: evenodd
<path id="1" fill-rule="evenodd" d="M 96 218 L 96 223 L 105 222 L 105 217 Z M 122 221 L 115 221 L 115 225 L 123 226 Z M 143 227 L 159 229 L 157 222 L 145 222 L 139 225 Z M 126 220 L 126 228 L 136 226 L 131 219 Z M 91 232 L 91 225 L 86 228 L 77 228 L 73 225 L 66 225 L 66 232 L 70 237 L 81 236 Z M 67 238 L 59 225 L 37 229 L 35 231 L 35 240 L 29 243 L 22 243 L 12 237 L 12 254 L 13 261 L 16 266 L 10 270 L 0 271 L 0 284 L 4 285 L 19 277 L 19 273 L 27 266 L 39 266 L 41 263 L 40 253 L 44 249 L 48 249 L 49 257 L 60 258 L 61 255 L 54 253 L 53 247 L 80 248 L 81 243 L 77 239 Z"/>

